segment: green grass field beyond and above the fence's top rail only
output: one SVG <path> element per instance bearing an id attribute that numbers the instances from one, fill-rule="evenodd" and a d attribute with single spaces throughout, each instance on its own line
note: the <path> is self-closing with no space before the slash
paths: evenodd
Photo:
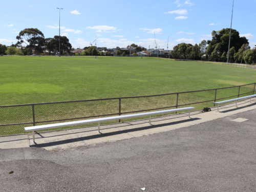
<path id="1" fill-rule="evenodd" d="M 0 105 L 129 97 L 253 83 L 255 70 L 136 57 L 0 57 Z"/>

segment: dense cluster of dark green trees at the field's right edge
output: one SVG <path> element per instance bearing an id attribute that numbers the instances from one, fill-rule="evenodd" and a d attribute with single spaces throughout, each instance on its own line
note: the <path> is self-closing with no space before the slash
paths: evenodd
<path id="1" fill-rule="evenodd" d="M 212 31 L 211 40 L 202 40 L 201 44 L 178 44 L 173 48 L 172 56 L 175 59 L 200 60 L 203 55 L 210 61 L 227 61 L 230 28 Z M 208 46 L 207 46 L 208 45 Z M 256 49 L 250 49 L 248 39 L 240 37 L 239 32 L 231 29 L 229 49 L 230 62 L 256 62 Z"/>

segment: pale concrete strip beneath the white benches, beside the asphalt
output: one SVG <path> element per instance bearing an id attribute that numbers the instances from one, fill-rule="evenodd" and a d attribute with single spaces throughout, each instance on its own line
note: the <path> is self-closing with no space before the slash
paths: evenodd
<path id="1" fill-rule="evenodd" d="M 1 137 L 3 141 L 0 141 L 0 148 L 40 147 L 48 151 L 65 150 L 176 130 L 254 109 L 256 109 L 256 98 L 252 98 L 251 103 L 249 99 L 238 101 L 238 108 L 234 103 L 220 105 L 220 112 L 217 112 L 217 106 L 212 107 L 211 112 L 192 111 L 190 118 L 186 112 L 152 118 L 151 124 L 148 123 L 148 119 L 142 119 L 101 125 L 101 134 L 97 132 L 97 126 L 39 132 L 35 134 L 36 144 L 32 143 L 31 134 L 6 136 Z"/>

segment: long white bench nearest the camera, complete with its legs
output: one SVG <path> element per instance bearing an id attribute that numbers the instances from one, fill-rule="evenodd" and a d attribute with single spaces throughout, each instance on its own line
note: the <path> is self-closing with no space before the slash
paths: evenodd
<path id="1" fill-rule="evenodd" d="M 178 108 L 178 109 L 171 109 L 171 110 L 163 110 L 163 111 L 154 111 L 154 112 L 145 112 L 145 113 L 137 113 L 137 114 L 129 114 L 129 115 L 120 115 L 120 116 L 113 116 L 113 117 L 102 117 L 97 119 L 87 119 L 87 120 L 80 120 L 80 121 L 71 121 L 71 122 L 64 122 L 64 123 L 54 123 L 54 124 L 46 124 L 46 125 L 37 125 L 37 126 L 28 126 L 25 127 L 25 132 L 33 132 L 33 142 L 35 142 L 35 131 L 39 130 L 47 130 L 47 129 L 54 129 L 58 127 L 65 127 L 65 126 L 73 126 L 73 125 L 80 125 L 80 124 L 88 124 L 88 123 L 95 123 L 98 122 L 98 132 L 100 133 L 100 122 L 102 121 L 110 121 L 110 120 L 118 120 L 118 119 L 126 119 L 132 117 L 141 117 L 141 116 L 150 116 L 150 123 L 151 123 L 151 115 L 156 114 L 163 114 L 163 113 L 170 113 L 170 112 L 177 112 L 177 111 L 185 111 L 188 110 L 188 116 L 190 118 L 190 110 L 196 109 L 192 106 L 187 108 Z"/>

